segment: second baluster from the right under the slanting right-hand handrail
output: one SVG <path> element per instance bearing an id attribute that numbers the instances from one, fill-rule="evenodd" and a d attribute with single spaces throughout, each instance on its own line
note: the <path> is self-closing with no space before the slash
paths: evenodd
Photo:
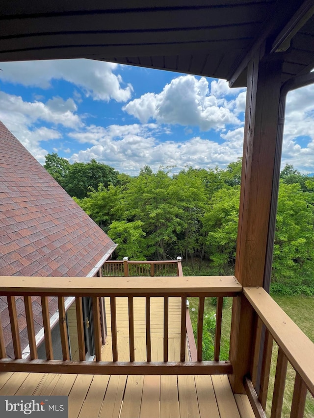
<path id="1" fill-rule="evenodd" d="M 273 402 L 271 406 L 271 418 L 281 418 L 284 392 L 286 384 L 288 360 L 283 350 L 278 347 L 278 358 L 274 383 Z"/>

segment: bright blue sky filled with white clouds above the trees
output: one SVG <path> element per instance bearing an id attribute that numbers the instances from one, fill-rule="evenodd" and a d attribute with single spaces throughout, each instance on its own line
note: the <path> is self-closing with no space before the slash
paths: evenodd
<path id="1" fill-rule="evenodd" d="M 242 155 L 245 89 L 224 80 L 93 60 L 1 63 L 0 120 L 45 162 L 95 158 L 225 168 Z M 314 172 L 314 86 L 289 93 L 282 165 Z"/>

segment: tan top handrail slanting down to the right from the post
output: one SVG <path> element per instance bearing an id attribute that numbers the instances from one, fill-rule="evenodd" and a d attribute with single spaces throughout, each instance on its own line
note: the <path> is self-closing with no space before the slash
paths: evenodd
<path id="1" fill-rule="evenodd" d="M 244 288 L 243 293 L 314 396 L 314 343 L 264 289 Z"/>

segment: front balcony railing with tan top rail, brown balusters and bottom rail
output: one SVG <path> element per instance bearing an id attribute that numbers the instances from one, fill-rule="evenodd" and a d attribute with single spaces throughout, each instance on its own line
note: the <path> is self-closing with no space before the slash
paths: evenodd
<path id="1" fill-rule="evenodd" d="M 242 290 L 241 285 L 233 276 L 216 277 L 152 277 L 149 281 L 142 277 L 113 278 L 76 278 L 54 277 L 10 277 L 1 278 L 0 295 L 7 295 L 10 313 L 12 341 L 15 359 L 6 358 L 3 335 L 0 333 L 0 371 L 35 371 L 55 373 L 84 374 L 230 374 L 232 365 L 229 361 L 219 361 L 221 314 L 223 296 L 235 296 Z M 19 337 L 15 295 L 25 298 L 27 332 L 30 345 L 30 360 L 22 359 Z M 42 302 L 43 324 L 45 331 L 45 347 L 47 360 L 38 360 L 33 326 L 33 313 L 30 303 L 31 296 L 40 296 Z M 48 313 L 48 296 L 58 296 L 59 323 L 63 361 L 53 360 L 52 336 Z M 68 338 L 66 334 L 64 298 L 74 296 L 77 313 L 77 331 L 79 345 L 79 361 L 70 361 Z M 83 329 L 82 297 L 92 298 L 94 339 L 96 361 L 85 361 L 85 341 Z M 110 298 L 112 362 L 102 361 L 102 343 L 100 335 L 100 297 Z M 145 297 L 146 321 L 146 362 L 135 362 L 134 351 L 134 297 Z M 186 349 L 186 298 L 199 297 L 198 315 L 198 361 L 185 359 Z M 217 332 L 214 361 L 202 361 L 202 336 L 205 297 L 216 296 Z M 116 298 L 128 298 L 129 312 L 129 348 L 130 361 L 120 362 L 118 352 L 118 329 Z M 152 362 L 151 350 L 151 308 L 152 297 L 163 298 L 163 362 Z M 169 341 L 169 298 L 181 298 L 181 333 L 180 361 L 168 361 Z M 1 328 L 1 327 L 0 327 Z"/>

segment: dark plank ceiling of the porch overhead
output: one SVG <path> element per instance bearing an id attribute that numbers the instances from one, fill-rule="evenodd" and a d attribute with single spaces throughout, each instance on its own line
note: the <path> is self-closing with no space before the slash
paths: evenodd
<path id="1" fill-rule="evenodd" d="M 232 80 L 245 85 L 250 53 L 271 49 L 291 17 L 302 27 L 286 52 L 283 78 L 314 66 L 312 1 L 99 0 L 50 3 L 4 0 L 0 61 L 90 58 Z M 308 19 L 309 18 L 309 19 Z M 297 19 L 298 21 L 298 19 Z"/>

